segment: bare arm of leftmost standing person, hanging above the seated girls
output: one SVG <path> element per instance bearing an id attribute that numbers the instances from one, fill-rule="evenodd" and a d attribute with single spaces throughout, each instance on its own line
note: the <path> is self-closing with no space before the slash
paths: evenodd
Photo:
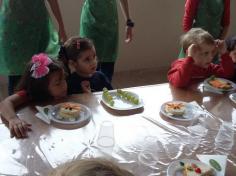
<path id="1" fill-rule="evenodd" d="M 57 19 L 57 22 L 59 25 L 60 38 L 61 38 L 62 42 L 65 42 L 67 40 L 67 36 L 66 36 L 66 32 L 65 32 L 65 28 L 64 28 L 62 17 L 61 17 L 61 12 L 60 12 L 58 2 L 57 2 L 57 0 L 48 0 L 48 2 L 50 4 L 50 7 L 52 9 L 54 16 Z"/>

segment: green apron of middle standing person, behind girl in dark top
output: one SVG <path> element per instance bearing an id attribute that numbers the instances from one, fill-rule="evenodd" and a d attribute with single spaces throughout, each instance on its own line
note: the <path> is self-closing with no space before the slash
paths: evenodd
<path id="1" fill-rule="evenodd" d="M 99 62 L 115 62 L 119 38 L 116 0 L 85 0 L 80 36 L 92 39 Z"/>

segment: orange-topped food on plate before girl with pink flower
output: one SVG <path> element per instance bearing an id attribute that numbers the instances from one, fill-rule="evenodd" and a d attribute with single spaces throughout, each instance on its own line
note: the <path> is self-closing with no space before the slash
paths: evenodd
<path id="1" fill-rule="evenodd" d="M 80 115 L 81 107 L 77 103 L 63 103 L 60 105 L 59 115 L 64 119 L 76 119 Z"/>

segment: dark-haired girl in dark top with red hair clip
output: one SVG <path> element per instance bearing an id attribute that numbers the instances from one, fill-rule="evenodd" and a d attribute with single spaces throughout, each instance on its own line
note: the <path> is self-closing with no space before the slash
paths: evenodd
<path id="1" fill-rule="evenodd" d="M 68 94 L 112 89 L 106 76 L 97 68 L 96 51 L 91 40 L 71 37 L 61 47 L 59 59 L 67 67 Z"/>

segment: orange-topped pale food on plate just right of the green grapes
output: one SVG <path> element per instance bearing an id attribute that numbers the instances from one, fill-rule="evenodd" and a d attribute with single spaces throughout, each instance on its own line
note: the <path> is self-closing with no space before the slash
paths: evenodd
<path id="1" fill-rule="evenodd" d="M 182 102 L 169 102 L 165 104 L 166 113 L 172 115 L 183 115 L 185 113 L 185 104 Z"/>

